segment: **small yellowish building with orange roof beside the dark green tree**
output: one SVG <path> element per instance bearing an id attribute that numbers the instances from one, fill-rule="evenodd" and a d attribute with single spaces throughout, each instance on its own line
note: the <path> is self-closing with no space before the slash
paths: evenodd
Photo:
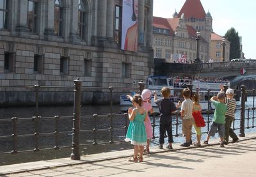
<path id="1" fill-rule="evenodd" d="M 228 40 L 225 40 L 225 56 L 224 61 L 230 61 L 229 60 L 229 52 L 230 52 L 230 42 Z M 220 36 L 214 32 L 211 34 L 211 62 L 221 62 L 223 61 L 223 36 Z"/>

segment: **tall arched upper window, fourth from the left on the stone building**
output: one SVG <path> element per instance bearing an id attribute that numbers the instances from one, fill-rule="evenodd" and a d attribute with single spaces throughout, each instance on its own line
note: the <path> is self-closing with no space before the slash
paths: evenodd
<path id="1" fill-rule="evenodd" d="M 78 32 L 81 40 L 86 40 L 86 8 L 83 0 L 78 0 Z"/>

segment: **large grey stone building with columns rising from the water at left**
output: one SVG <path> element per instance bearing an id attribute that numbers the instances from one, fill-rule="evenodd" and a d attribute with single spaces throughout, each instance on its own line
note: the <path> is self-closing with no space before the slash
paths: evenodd
<path id="1" fill-rule="evenodd" d="M 1 88 L 73 86 L 77 77 L 97 88 L 145 81 L 154 72 L 153 0 L 138 8 L 143 37 L 131 52 L 120 49 L 122 0 L 0 0 Z"/>

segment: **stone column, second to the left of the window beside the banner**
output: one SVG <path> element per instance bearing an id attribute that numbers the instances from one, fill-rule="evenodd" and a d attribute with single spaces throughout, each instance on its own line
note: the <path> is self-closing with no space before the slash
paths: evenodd
<path id="1" fill-rule="evenodd" d="M 107 1 L 98 1 L 97 37 L 106 38 Z"/>

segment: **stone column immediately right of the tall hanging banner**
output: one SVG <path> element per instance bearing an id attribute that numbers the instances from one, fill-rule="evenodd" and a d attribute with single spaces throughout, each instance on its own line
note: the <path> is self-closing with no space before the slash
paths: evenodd
<path id="1" fill-rule="evenodd" d="M 144 7 L 145 0 L 139 1 L 139 17 L 138 17 L 138 44 L 144 44 Z"/>

